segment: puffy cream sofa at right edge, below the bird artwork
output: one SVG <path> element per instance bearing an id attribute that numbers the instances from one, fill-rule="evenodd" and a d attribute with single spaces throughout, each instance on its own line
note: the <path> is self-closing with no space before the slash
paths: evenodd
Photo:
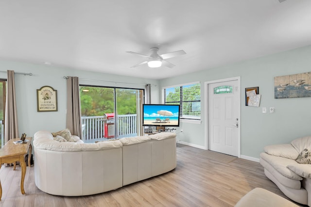
<path id="1" fill-rule="evenodd" d="M 311 150 L 311 137 L 295 139 L 288 144 L 264 147 L 260 164 L 265 175 L 293 201 L 311 206 L 311 164 L 296 161 L 304 150 Z"/>

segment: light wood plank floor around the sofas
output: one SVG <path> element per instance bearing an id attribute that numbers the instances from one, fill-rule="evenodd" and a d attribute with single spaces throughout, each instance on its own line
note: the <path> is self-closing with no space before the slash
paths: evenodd
<path id="1" fill-rule="evenodd" d="M 209 159 L 206 150 L 177 144 L 173 171 L 115 191 L 63 197 L 36 188 L 34 167 L 27 167 L 25 192 L 20 192 L 20 166 L 1 167 L 0 207 L 233 207 L 248 191 L 260 187 L 283 193 L 263 173 L 262 166 L 245 159 Z M 222 154 L 221 154 L 222 155 Z"/>

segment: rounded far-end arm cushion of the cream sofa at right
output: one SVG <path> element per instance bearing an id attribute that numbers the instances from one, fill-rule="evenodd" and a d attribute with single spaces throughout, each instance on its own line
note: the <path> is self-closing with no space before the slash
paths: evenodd
<path id="1" fill-rule="evenodd" d="M 288 158 L 288 159 L 296 159 L 299 155 L 299 152 L 293 147 L 292 144 L 273 144 L 268 145 L 263 148 L 263 150 L 269 155 Z"/>

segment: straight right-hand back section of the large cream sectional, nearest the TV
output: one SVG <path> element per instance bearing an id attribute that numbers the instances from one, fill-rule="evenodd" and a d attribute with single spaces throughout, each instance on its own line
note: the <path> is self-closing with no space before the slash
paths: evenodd
<path id="1" fill-rule="evenodd" d="M 122 138 L 123 186 L 176 167 L 175 133 Z"/>

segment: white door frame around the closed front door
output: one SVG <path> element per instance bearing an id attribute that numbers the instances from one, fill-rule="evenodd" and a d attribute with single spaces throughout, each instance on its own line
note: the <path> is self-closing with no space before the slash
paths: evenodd
<path id="1" fill-rule="evenodd" d="M 241 76 L 238 77 L 232 77 L 232 78 L 227 78 L 227 79 L 219 79 L 219 80 L 210 80 L 204 82 L 204 96 L 205 96 L 205 104 L 204 104 L 204 119 L 206 120 L 206 124 L 204 126 L 204 131 L 205 131 L 205 149 L 209 149 L 209 117 L 208 117 L 208 86 L 209 84 L 212 83 L 220 83 L 220 82 L 226 82 L 226 81 L 231 81 L 231 80 L 237 80 L 238 81 L 238 118 L 239 118 L 239 127 L 238 127 L 238 158 L 241 157 Z M 236 89 L 234 89 L 235 91 Z"/>

